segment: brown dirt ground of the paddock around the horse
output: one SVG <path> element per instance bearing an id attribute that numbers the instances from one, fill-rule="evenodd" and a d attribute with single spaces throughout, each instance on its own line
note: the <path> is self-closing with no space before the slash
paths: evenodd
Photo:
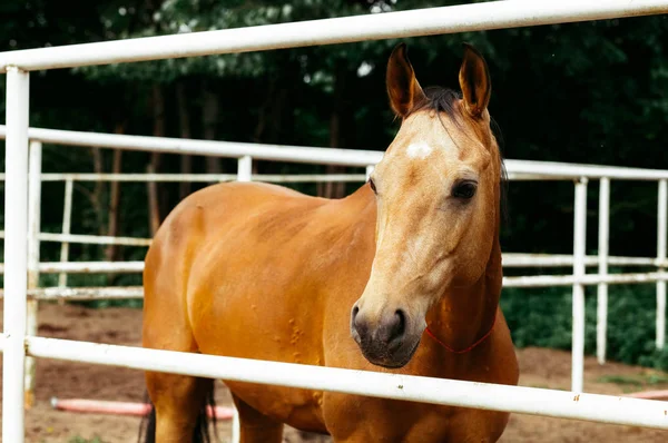
<path id="1" fill-rule="evenodd" d="M 138 345 L 141 312 L 137 309 L 87 309 L 79 306 L 42 304 L 39 335 L 88 342 Z M 568 390 L 570 354 L 567 352 L 527 348 L 518 352 L 523 386 Z M 110 401 L 144 401 L 144 377 L 140 372 L 116 367 L 73 364 L 40 360 L 37 370 L 37 404 L 26 417 L 28 442 L 136 442 L 140 419 L 99 414 L 61 412 L 51 408 L 50 398 L 97 398 Z M 649 384 L 652 377 L 668 380 L 667 374 L 616 363 L 599 366 L 587 358 L 584 368 L 587 392 L 625 394 L 632 391 L 665 390 L 668 383 Z M 217 388 L 219 405 L 229 404 L 223 384 Z M 219 423 L 218 435 L 229 439 L 229 422 Z M 328 441 L 285 432 L 285 442 Z M 511 416 L 501 442 L 665 442 L 668 432 L 588 422 Z"/>

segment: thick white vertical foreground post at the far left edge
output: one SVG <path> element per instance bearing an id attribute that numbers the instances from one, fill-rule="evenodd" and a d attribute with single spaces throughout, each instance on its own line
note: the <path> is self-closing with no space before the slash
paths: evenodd
<path id="1" fill-rule="evenodd" d="M 2 441 L 23 443 L 23 375 L 28 284 L 28 121 L 30 76 L 7 68 L 4 178 L 4 351 Z"/>

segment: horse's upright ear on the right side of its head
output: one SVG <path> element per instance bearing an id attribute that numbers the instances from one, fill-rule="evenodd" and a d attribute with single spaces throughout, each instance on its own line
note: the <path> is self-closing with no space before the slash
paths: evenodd
<path id="1" fill-rule="evenodd" d="M 459 77 L 466 111 L 473 117 L 480 117 L 490 104 L 492 82 L 487 62 L 480 52 L 468 43 L 464 43 L 464 60 Z"/>

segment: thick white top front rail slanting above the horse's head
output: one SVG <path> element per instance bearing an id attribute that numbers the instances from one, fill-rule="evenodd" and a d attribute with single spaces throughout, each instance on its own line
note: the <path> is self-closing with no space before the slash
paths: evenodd
<path id="1" fill-rule="evenodd" d="M 267 24 L 0 53 L 0 71 L 72 68 L 140 60 L 407 38 L 488 29 L 658 14 L 661 0 L 492 1 L 445 8 Z"/>

